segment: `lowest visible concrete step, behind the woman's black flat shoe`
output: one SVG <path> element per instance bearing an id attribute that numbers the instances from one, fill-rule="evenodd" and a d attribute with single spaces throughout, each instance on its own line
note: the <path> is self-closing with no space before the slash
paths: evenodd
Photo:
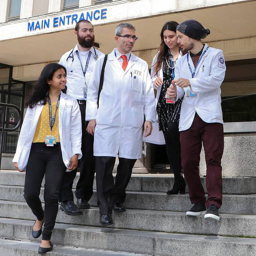
<path id="1" fill-rule="evenodd" d="M 2 256 L 38 256 L 37 242 L 20 240 L 0 239 L 0 255 Z M 141 254 L 110 252 L 106 250 L 95 250 L 77 248 L 74 246 L 54 245 L 53 250 L 48 252 L 50 256 L 141 256 Z"/>

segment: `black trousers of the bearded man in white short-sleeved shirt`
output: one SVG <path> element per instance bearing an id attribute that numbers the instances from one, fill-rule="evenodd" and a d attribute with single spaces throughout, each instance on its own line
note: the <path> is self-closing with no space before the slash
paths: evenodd
<path id="1" fill-rule="evenodd" d="M 82 158 L 80 159 L 80 178 L 77 182 L 75 196 L 77 198 L 89 201 L 93 193 L 93 181 L 95 174 L 95 157 L 93 155 L 94 136 L 86 131 L 88 122 L 85 121 L 86 104 L 79 104 L 82 118 Z M 73 201 L 72 192 L 73 181 L 77 174 L 77 169 L 71 172 L 66 172 L 63 184 L 60 190 L 60 202 Z"/>

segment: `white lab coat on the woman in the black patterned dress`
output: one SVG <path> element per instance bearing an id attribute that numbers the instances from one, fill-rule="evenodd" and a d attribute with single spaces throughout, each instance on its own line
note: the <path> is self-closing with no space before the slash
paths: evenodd
<path id="1" fill-rule="evenodd" d="M 155 57 L 153 58 L 152 65 L 151 65 L 151 81 L 152 81 L 152 85 L 153 85 L 154 89 L 156 90 L 155 108 L 157 107 L 157 103 L 159 100 L 162 86 L 155 87 L 154 82 L 155 82 L 156 78 L 158 78 L 158 77 L 160 77 L 162 79 L 162 81 L 164 80 L 163 64 L 162 64 L 160 70 L 158 71 L 158 74 L 155 74 L 155 63 L 157 60 L 157 55 L 158 55 L 158 53 L 156 53 Z M 181 56 L 182 56 L 182 54 L 180 53 L 178 58 L 180 58 Z M 177 60 L 178 60 L 178 58 L 177 58 Z M 153 126 L 153 130 L 152 130 L 151 135 L 149 135 L 148 137 L 143 137 L 143 141 L 153 143 L 153 144 L 158 144 L 158 145 L 164 145 L 165 144 L 164 134 L 162 131 L 159 131 L 157 112 L 156 112 L 156 122 L 152 126 Z"/>

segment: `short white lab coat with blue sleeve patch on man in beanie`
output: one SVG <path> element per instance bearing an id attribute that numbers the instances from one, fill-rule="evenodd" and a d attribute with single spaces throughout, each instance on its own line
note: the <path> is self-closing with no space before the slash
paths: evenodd
<path id="1" fill-rule="evenodd" d="M 208 45 L 205 44 L 203 52 Z M 192 72 L 195 70 L 190 54 L 189 64 Z M 190 81 L 190 88 L 195 97 L 183 98 L 181 105 L 181 117 L 179 119 L 179 131 L 185 131 L 191 127 L 195 113 L 207 123 L 218 122 L 223 124 L 220 85 L 225 77 L 226 65 L 222 50 L 209 47 L 203 55 L 195 77 L 192 78 L 187 62 L 187 54 L 179 58 L 175 65 L 175 80 L 186 78 Z M 187 88 L 177 86 L 177 98 L 182 98 Z"/>

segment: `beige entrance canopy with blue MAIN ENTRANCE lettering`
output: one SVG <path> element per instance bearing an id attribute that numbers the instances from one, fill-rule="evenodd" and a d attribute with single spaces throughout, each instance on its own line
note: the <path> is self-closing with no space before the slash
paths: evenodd
<path id="1" fill-rule="evenodd" d="M 141 1 L 135 2 L 138 4 Z M 74 35 L 75 21 L 72 24 L 72 19 L 76 18 L 79 20 L 81 13 L 86 15 L 89 13 L 89 20 L 92 13 L 95 42 L 100 45 L 100 51 L 103 53 L 109 53 L 115 47 L 115 27 L 122 21 L 128 21 L 135 25 L 136 35 L 139 37 L 139 40 L 136 41 L 133 50 L 141 51 L 158 48 L 160 43 L 159 34 L 166 21 L 175 20 L 180 23 L 192 18 L 200 21 L 203 26 L 210 29 L 210 35 L 206 40 L 211 42 L 210 46 L 221 48 L 226 60 L 256 57 L 256 1 L 243 1 L 241 3 L 216 7 L 206 7 L 203 4 L 195 5 L 192 3 L 193 8 L 191 7 L 190 9 L 193 10 L 177 12 L 179 9 L 188 9 L 189 7 L 176 7 L 173 6 L 175 1 L 159 0 L 158 2 L 159 5 L 162 5 L 162 9 L 166 6 L 166 10 L 169 10 L 169 13 L 164 13 L 164 11 L 159 13 L 160 7 L 153 6 L 155 1 L 152 0 L 150 8 L 145 4 L 141 4 L 141 9 L 138 9 L 138 6 L 137 10 L 134 10 L 134 14 L 132 14 L 129 6 L 135 2 L 128 1 L 124 3 L 124 1 L 120 1 L 118 3 L 118 1 L 115 1 L 115 4 L 108 4 L 101 8 L 98 7 L 90 10 L 80 8 L 38 16 L 36 18 L 2 23 L 0 24 L 0 62 L 18 66 L 58 61 L 64 52 L 73 48 L 77 43 Z M 183 3 L 182 0 L 179 2 Z M 221 1 L 207 2 L 220 3 Z M 63 21 L 60 21 L 63 20 L 63 17 L 70 15 L 69 24 L 67 19 L 64 21 L 64 24 Z M 74 17 L 73 15 L 76 16 Z M 44 26 L 44 21 L 48 24 L 48 19 L 49 28 Z M 37 21 L 40 29 L 37 28 L 35 30 Z M 42 21 L 43 29 L 41 29 Z M 28 24 L 30 24 L 30 28 L 31 26 L 34 27 L 34 31 L 32 28 L 28 29 Z M 54 24 L 56 27 L 53 27 Z M 240 38 L 243 40 L 241 41 Z M 231 41 L 229 42 L 229 40 Z M 228 43 L 223 43 L 223 41 Z"/>

